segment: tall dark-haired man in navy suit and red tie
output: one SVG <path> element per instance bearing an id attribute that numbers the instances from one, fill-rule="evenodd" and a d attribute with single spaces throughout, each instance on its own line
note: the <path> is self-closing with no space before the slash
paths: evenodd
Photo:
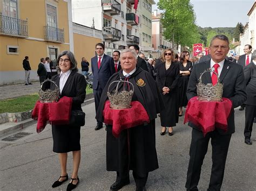
<path id="1" fill-rule="evenodd" d="M 91 59 L 93 74 L 92 89 L 95 99 L 95 111 L 99 107 L 100 96 L 105 88 L 110 76 L 116 72 L 114 69 L 114 60 L 111 56 L 104 54 L 105 46 L 102 43 L 96 44 L 97 55 Z M 97 121 L 95 130 L 103 128 L 103 123 Z"/>

